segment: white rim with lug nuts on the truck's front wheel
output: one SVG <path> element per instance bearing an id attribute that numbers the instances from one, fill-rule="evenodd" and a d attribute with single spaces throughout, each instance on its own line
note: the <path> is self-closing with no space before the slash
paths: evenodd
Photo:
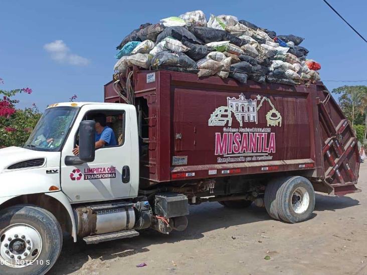
<path id="1" fill-rule="evenodd" d="M 0 258 L 3 264 L 21 268 L 32 264 L 41 254 L 42 238 L 31 225 L 15 223 L 0 233 Z"/>

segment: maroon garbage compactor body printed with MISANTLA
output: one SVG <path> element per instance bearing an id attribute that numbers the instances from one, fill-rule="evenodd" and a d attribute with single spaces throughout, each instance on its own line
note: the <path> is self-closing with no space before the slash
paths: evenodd
<path id="1" fill-rule="evenodd" d="M 147 146 L 140 165 L 144 186 L 291 172 L 309 178 L 316 191 L 359 191 L 355 135 L 322 82 L 242 85 L 134 70 L 133 87 L 142 114 L 139 135 Z M 123 103 L 113 81 L 104 97 Z"/>

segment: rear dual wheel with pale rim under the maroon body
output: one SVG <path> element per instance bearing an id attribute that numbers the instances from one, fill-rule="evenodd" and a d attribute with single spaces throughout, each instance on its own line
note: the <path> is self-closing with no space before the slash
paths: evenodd
<path id="1" fill-rule="evenodd" d="M 315 191 L 305 177 L 278 178 L 267 185 L 264 200 L 272 218 L 296 223 L 311 217 L 315 208 Z"/>

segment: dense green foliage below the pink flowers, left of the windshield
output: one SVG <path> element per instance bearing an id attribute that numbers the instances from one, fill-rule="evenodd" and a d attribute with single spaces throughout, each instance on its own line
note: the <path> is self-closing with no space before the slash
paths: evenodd
<path id="1" fill-rule="evenodd" d="M 10 117 L 0 116 L 0 148 L 23 146 L 40 117 L 35 106 L 18 109 Z"/>

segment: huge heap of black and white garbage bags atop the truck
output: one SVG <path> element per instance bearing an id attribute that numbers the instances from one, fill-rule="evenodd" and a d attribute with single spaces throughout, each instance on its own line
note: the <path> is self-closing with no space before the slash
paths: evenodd
<path id="1" fill-rule="evenodd" d="M 116 73 L 131 66 L 171 70 L 199 77 L 248 79 L 258 83 L 296 85 L 301 80 L 320 80 L 319 63 L 307 59 L 304 38 L 277 35 L 246 20 L 202 11 L 145 23 L 117 46 Z"/>

